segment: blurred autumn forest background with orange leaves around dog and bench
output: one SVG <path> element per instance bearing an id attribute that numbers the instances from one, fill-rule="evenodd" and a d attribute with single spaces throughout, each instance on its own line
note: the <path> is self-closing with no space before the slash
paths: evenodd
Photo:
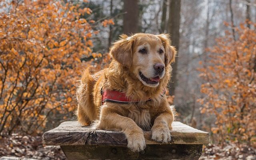
<path id="1" fill-rule="evenodd" d="M 0 156 L 65 159 L 42 134 L 74 120 L 82 68 L 122 33 L 170 33 L 170 104 L 210 132 L 201 159 L 256 160 L 256 0 L 0 0 Z"/>

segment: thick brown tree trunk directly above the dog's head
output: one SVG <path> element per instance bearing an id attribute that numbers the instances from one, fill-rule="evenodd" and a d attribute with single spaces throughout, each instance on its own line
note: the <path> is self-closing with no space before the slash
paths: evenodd
<path id="1" fill-rule="evenodd" d="M 124 34 L 138 32 L 138 0 L 124 0 Z"/>

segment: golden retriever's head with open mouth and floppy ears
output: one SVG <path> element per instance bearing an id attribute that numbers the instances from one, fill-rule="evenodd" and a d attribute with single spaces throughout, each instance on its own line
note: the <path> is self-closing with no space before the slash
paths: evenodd
<path id="1" fill-rule="evenodd" d="M 145 86 L 156 87 L 166 67 L 175 60 L 176 50 L 168 34 L 123 34 L 110 49 L 112 57 L 128 68 Z"/>

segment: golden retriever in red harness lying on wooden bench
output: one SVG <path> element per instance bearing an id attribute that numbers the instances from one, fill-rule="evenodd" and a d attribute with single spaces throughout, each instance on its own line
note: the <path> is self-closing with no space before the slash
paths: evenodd
<path id="1" fill-rule="evenodd" d="M 123 34 L 110 54 L 113 59 L 108 68 L 94 75 L 88 69 L 82 73 L 77 88 L 78 122 L 123 132 L 134 152 L 146 147 L 143 130 L 151 129 L 152 140 L 170 142 L 174 114 L 165 88 L 176 50 L 168 34 Z M 102 95 L 128 102 L 105 100 Z"/>

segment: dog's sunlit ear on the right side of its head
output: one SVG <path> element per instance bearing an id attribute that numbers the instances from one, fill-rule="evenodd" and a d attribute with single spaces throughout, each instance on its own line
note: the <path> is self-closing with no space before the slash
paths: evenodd
<path id="1" fill-rule="evenodd" d="M 165 65 L 175 62 L 175 56 L 177 54 L 177 51 L 174 46 L 171 46 L 171 40 L 169 34 L 159 34 L 157 35 L 164 45 L 165 49 Z"/>

